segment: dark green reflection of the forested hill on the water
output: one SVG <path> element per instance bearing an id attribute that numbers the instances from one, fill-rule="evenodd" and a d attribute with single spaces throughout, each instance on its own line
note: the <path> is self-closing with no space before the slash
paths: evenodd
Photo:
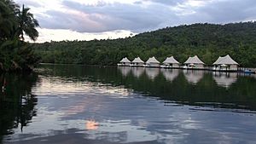
<path id="1" fill-rule="evenodd" d="M 42 66 L 43 67 L 43 66 Z M 134 78 L 133 72 L 128 74 L 125 78 L 116 67 L 102 67 L 102 66 L 44 66 L 49 71 L 44 72 L 51 76 L 58 76 L 61 78 L 73 78 L 73 80 L 82 80 L 97 82 L 101 84 L 111 84 L 113 87 L 122 85 L 125 89 L 133 89 L 141 94 L 160 97 L 164 100 L 177 101 L 189 105 L 205 105 L 199 102 L 207 102 L 213 106 L 213 103 L 219 103 L 222 107 L 224 103 L 236 104 L 234 107 L 246 106 L 244 108 L 256 110 L 256 80 L 251 78 L 253 76 L 239 76 L 236 83 L 233 83 L 229 89 L 219 87 L 212 78 L 212 72 L 193 71 L 188 73 L 190 76 L 197 77 L 196 84 L 189 84 L 185 77 L 187 73 L 179 73 L 175 78 L 175 83 L 166 81 L 166 77 L 158 73 L 154 81 L 146 75 L 141 75 L 139 78 Z M 131 69 L 134 67 L 131 67 Z M 148 68 L 144 68 L 145 71 Z M 157 68 L 151 68 L 159 71 Z M 192 72 L 189 70 L 189 72 Z M 149 72 L 150 73 L 150 72 Z M 154 73 L 154 72 L 153 72 Z M 144 77 L 145 76 L 145 77 Z M 198 80 L 199 79 L 199 80 Z M 194 81 L 195 82 L 195 81 Z M 145 95 L 145 96 L 146 96 Z M 213 106 L 215 107 L 215 105 Z M 241 108 L 241 107 L 238 107 Z"/>

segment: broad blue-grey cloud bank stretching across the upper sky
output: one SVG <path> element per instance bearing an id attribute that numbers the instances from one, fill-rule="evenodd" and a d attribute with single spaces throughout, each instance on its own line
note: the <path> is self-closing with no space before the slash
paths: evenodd
<path id="1" fill-rule="evenodd" d="M 152 2 L 143 6 L 143 1 Z M 131 30 L 145 32 L 166 26 L 177 26 L 198 22 L 227 23 L 247 19 L 256 19 L 256 3 L 254 0 L 244 1 L 204 1 L 201 7 L 182 7 L 195 13 L 178 15 L 173 7 L 185 0 L 141 0 L 133 4 L 127 3 L 97 3 L 86 5 L 72 1 L 63 1 L 66 9 L 73 9 L 86 14 L 47 11 L 50 17 L 39 16 L 40 25 L 44 28 L 70 29 L 77 32 L 108 32 L 114 30 Z"/>

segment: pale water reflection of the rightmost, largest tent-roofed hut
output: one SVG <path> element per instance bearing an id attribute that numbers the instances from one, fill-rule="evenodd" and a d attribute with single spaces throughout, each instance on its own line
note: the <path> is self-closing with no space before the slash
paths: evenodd
<path id="1" fill-rule="evenodd" d="M 231 84 L 236 83 L 236 72 L 213 72 L 213 79 L 222 87 L 229 88 Z"/>

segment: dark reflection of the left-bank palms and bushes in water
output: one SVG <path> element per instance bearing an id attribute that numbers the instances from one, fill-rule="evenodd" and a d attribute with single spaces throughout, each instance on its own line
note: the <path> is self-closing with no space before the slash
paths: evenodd
<path id="1" fill-rule="evenodd" d="M 31 74 L 2 74 L 1 88 L 6 81 L 5 89 L 0 92 L 0 141 L 3 135 L 14 133 L 12 129 L 23 127 L 30 123 L 36 115 L 36 95 L 32 95 L 32 86 L 36 84 L 38 76 Z"/>

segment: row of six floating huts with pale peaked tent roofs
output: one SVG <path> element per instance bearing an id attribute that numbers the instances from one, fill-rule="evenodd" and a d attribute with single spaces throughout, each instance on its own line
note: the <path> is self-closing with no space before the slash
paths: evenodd
<path id="1" fill-rule="evenodd" d="M 230 55 L 219 56 L 212 67 L 205 66 L 206 64 L 199 59 L 197 55 L 189 57 L 183 63 L 183 66 L 173 57 L 167 57 L 160 65 L 160 61 L 156 58 L 150 57 L 144 62 L 140 57 L 134 60 L 128 60 L 126 57 L 119 61 L 118 66 L 137 66 L 137 67 L 160 67 L 160 68 L 178 68 L 178 69 L 196 69 L 196 70 L 210 70 L 210 71 L 224 71 L 224 72 L 239 72 L 239 64 L 233 60 Z"/>

